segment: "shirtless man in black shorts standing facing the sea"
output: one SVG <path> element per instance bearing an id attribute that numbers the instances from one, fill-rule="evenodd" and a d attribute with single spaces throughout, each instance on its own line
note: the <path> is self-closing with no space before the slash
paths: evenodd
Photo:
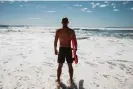
<path id="1" fill-rule="evenodd" d="M 58 69 L 57 69 L 57 83 L 60 83 L 60 76 L 62 72 L 62 66 L 63 63 L 65 62 L 65 59 L 68 64 L 69 68 L 69 76 L 70 76 L 70 85 L 73 83 L 73 58 L 72 58 L 72 49 L 71 49 L 71 40 L 74 40 L 74 43 L 76 45 L 77 50 L 77 39 L 75 36 L 74 30 L 68 27 L 68 18 L 63 18 L 62 19 L 62 25 L 63 27 L 58 29 L 55 34 L 55 40 L 54 40 L 54 50 L 55 50 L 55 55 L 58 55 Z M 57 42 L 60 42 L 60 48 L 59 48 L 59 53 L 57 51 Z"/>

